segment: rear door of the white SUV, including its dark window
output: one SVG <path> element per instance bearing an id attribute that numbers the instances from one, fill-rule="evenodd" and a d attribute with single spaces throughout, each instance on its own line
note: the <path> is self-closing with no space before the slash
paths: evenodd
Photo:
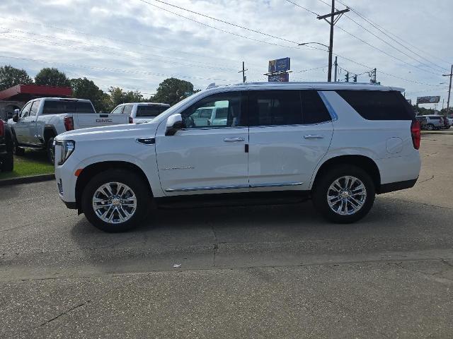
<path id="1" fill-rule="evenodd" d="M 315 90 L 253 90 L 249 95 L 251 191 L 308 189 L 333 126 Z"/>

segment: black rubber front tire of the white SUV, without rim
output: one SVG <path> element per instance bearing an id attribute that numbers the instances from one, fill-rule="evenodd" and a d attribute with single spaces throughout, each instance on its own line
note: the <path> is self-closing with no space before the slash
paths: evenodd
<path id="1" fill-rule="evenodd" d="M 101 220 L 93 208 L 93 196 L 96 191 L 109 182 L 119 182 L 130 187 L 137 199 L 137 208 L 132 217 L 125 222 L 105 222 Z M 151 206 L 151 194 L 147 182 L 139 177 L 136 173 L 126 169 L 110 169 L 105 172 L 96 174 L 85 186 L 81 196 L 81 208 L 86 218 L 94 227 L 105 232 L 125 232 L 137 227 L 147 215 Z M 102 210 L 101 210 L 102 212 Z M 117 211 L 116 213 L 119 213 Z"/>

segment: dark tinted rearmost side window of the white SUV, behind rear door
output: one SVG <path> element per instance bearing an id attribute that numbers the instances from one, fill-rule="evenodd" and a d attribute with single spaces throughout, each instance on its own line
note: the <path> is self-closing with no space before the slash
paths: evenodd
<path id="1" fill-rule="evenodd" d="M 412 120 L 415 113 L 401 93 L 382 90 L 337 90 L 367 120 Z"/>

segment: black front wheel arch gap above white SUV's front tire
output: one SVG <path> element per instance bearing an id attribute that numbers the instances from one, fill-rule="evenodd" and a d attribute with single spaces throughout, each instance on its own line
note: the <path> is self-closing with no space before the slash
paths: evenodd
<path id="1" fill-rule="evenodd" d="M 79 210 L 79 213 L 82 213 L 83 211 L 81 210 L 81 196 L 84 191 L 84 188 L 86 187 L 86 184 L 90 181 L 90 179 L 95 176 L 98 173 L 104 172 L 108 169 L 126 169 L 130 172 L 134 172 L 135 174 L 139 175 L 144 182 L 147 183 L 148 189 L 149 189 L 149 194 L 153 196 L 153 192 L 151 189 L 151 184 L 149 184 L 149 180 L 144 173 L 143 169 L 141 169 L 139 166 L 133 164 L 132 162 L 127 162 L 127 161 L 103 161 L 103 162 L 95 162 L 91 165 L 88 165 L 85 167 L 81 173 L 79 174 L 79 177 L 77 177 L 76 180 L 76 207 Z"/>

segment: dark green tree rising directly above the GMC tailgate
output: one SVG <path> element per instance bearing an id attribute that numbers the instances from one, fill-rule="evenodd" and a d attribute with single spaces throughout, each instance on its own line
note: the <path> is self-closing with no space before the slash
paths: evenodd
<path id="1" fill-rule="evenodd" d="M 96 111 L 110 112 L 110 96 L 87 78 L 71 79 L 72 97 L 88 99 L 93 102 Z"/>

